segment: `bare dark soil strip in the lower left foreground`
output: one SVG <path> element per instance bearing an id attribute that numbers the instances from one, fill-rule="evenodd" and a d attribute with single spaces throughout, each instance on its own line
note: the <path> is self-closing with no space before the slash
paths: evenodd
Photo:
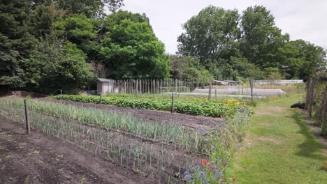
<path id="1" fill-rule="evenodd" d="M 155 183 L 0 116 L 0 183 Z"/>

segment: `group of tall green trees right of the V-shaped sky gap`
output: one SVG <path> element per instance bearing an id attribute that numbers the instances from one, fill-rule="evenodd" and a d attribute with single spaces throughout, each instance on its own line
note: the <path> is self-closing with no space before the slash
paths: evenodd
<path id="1" fill-rule="evenodd" d="M 218 79 L 268 77 L 278 68 L 286 79 L 308 79 L 326 70 L 326 51 L 304 40 L 289 39 L 264 6 L 242 12 L 208 6 L 182 25 L 178 51 L 196 56 Z"/>

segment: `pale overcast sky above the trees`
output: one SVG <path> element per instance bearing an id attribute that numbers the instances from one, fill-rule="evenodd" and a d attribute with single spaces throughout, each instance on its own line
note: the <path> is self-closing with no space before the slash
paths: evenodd
<path id="1" fill-rule="evenodd" d="M 327 49 L 327 0 L 124 0 L 123 10 L 145 13 L 166 52 L 177 52 L 182 24 L 209 6 L 236 8 L 242 13 L 249 6 L 263 5 L 274 15 L 282 33 L 291 40 L 303 39 Z"/>

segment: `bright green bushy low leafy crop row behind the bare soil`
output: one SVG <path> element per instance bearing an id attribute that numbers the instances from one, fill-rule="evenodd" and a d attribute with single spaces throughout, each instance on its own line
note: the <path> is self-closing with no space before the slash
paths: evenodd
<path id="1" fill-rule="evenodd" d="M 97 95 L 57 95 L 53 98 L 57 100 L 71 100 L 75 102 L 100 102 L 100 97 Z M 110 97 L 103 97 L 102 104 L 161 111 L 170 111 L 171 109 L 171 100 L 169 99 L 136 98 L 135 96 L 126 95 L 112 95 Z M 236 110 L 240 107 L 248 109 L 246 105 L 239 103 L 224 104 L 220 102 L 178 99 L 174 101 L 174 112 L 195 116 L 228 117 L 233 116 Z"/>

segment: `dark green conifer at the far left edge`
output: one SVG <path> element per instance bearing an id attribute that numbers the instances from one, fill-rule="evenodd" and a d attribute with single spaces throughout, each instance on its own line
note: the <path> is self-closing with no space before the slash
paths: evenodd
<path id="1" fill-rule="evenodd" d="M 0 3 L 0 86 L 17 89 L 25 84 L 20 62 L 34 48 L 31 36 L 29 1 L 5 0 Z"/>

